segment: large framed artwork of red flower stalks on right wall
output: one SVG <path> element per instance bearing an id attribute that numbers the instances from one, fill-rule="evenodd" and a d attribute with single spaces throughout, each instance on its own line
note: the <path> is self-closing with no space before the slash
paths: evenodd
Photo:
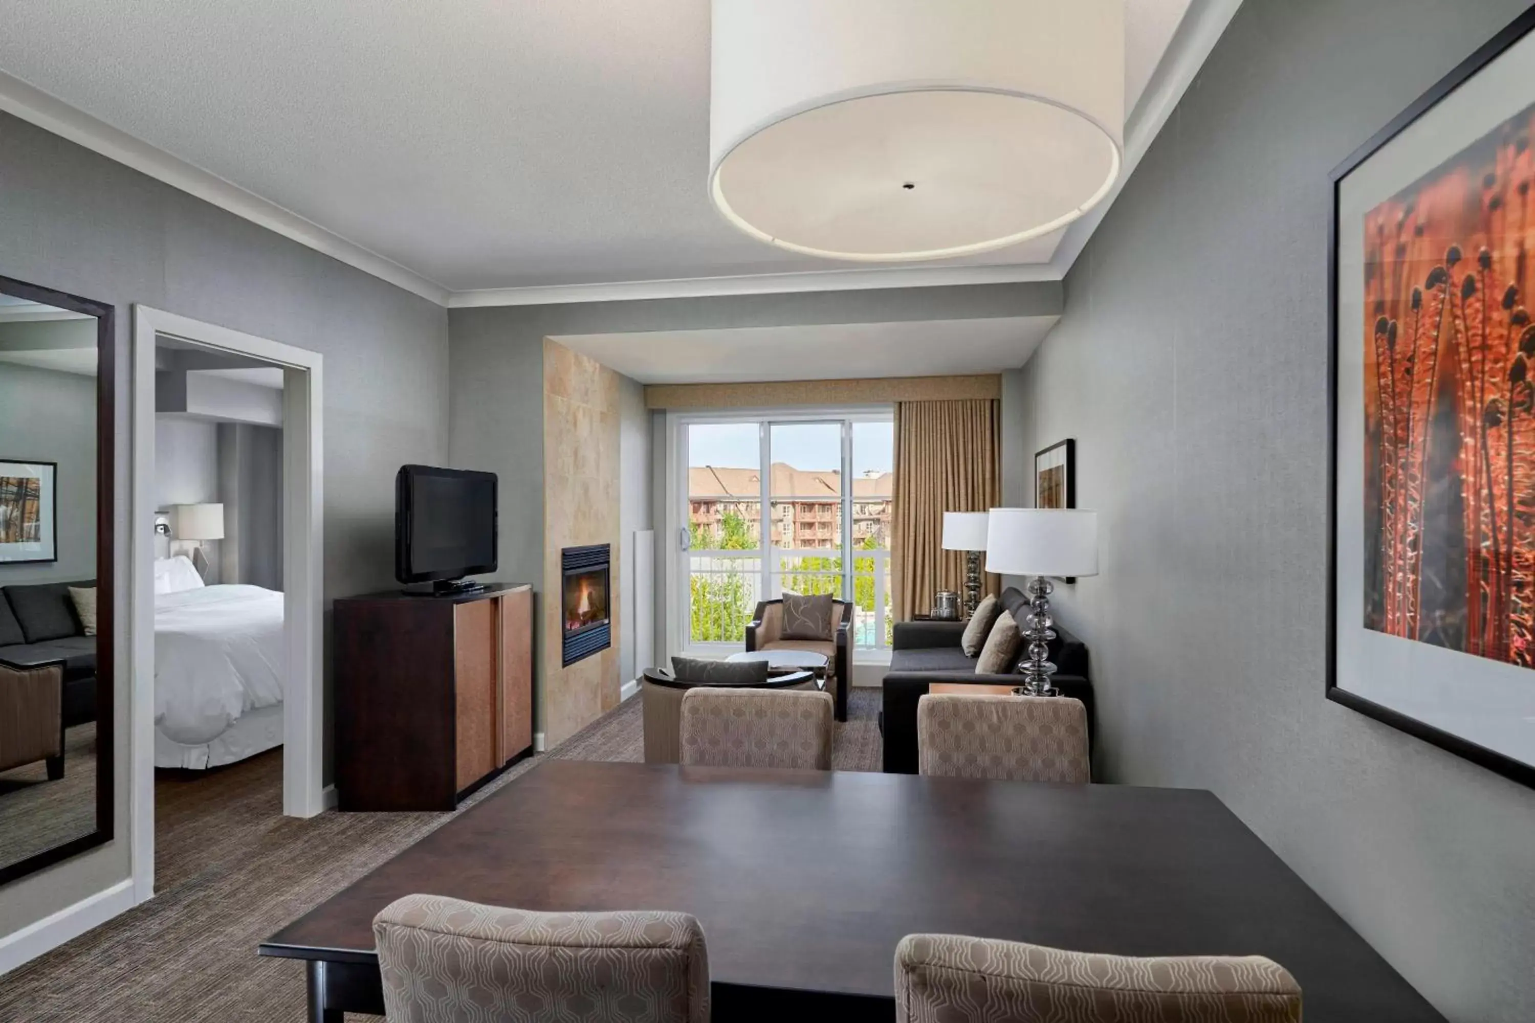
<path id="1" fill-rule="evenodd" d="M 1535 785 L 1535 8 L 1332 172 L 1329 699 Z"/>

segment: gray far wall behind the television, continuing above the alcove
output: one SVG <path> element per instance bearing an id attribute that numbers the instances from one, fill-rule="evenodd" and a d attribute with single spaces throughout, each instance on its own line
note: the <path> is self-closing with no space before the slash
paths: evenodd
<path id="1" fill-rule="evenodd" d="M 502 580 L 543 577 L 543 339 L 609 331 L 866 324 L 1045 316 L 1061 311 L 1058 282 L 743 294 L 643 302 L 456 308 L 451 336 L 453 465 L 500 475 Z M 635 342 L 640 344 L 640 342 Z M 870 367 L 880 376 L 881 367 Z M 665 431 L 660 431 L 665 433 Z M 662 440 L 652 437 L 652 445 Z M 652 494 L 652 508 L 659 502 Z M 660 529 L 665 518 L 652 518 Z M 671 548 L 657 535 L 657 583 Z M 536 600 L 542 600 L 542 594 Z M 665 652 L 657 617 L 655 655 Z M 543 652 L 534 660 L 542 664 Z M 542 676 L 542 669 L 539 675 Z"/>

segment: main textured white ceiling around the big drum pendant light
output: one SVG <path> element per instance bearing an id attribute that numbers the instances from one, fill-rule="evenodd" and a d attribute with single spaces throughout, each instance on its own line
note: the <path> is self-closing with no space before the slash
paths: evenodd
<path id="1" fill-rule="evenodd" d="M 1127 0 L 1127 112 L 1188 5 Z M 708 0 L 0 0 L 0 71 L 451 290 L 847 267 L 711 207 Z"/>

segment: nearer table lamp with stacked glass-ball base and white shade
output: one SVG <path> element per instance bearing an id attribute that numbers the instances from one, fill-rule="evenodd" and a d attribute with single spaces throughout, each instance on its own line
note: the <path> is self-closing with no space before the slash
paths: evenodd
<path id="1" fill-rule="evenodd" d="M 1050 618 L 1048 575 L 1098 575 L 1098 512 L 1055 508 L 993 508 L 985 529 L 985 571 L 1005 575 L 1033 575 L 1027 594 L 1030 613 L 1019 629 L 1028 641 L 1028 658 L 1018 672 L 1021 696 L 1055 696 L 1050 676 L 1050 647 L 1055 620 Z"/>

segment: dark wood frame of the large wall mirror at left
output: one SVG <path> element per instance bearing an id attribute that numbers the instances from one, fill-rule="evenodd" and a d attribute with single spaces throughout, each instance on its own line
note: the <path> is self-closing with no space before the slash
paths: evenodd
<path id="1" fill-rule="evenodd" d="M 115 518 L 115 465 L 114 439 L 117 436 L 117 330 L 115 310 L 104 302 L 94 302 L 54 291 L 25 281 L 0 276 L 0 291 L 15 298 L 57 305 L 72 313 L 84 313 L 97 321 L 97 814 L 95 831 L 71 839 L 63 845 L 43 850 L 15 863 L 0 865 L 0 885 L 34 874 L 86 850 L 112 840 L 112 810 L 117 790 L 114 787 L 112 761 L 115 759 L 115 716 L 112 712 L 112 661 L 115 650 L 115 604 L 112 523 Z"/>

